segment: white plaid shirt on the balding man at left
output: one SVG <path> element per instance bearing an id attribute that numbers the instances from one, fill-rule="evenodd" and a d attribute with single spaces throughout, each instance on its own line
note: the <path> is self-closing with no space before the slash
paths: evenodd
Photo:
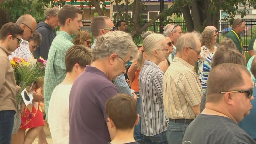
<path id="1" fill-rule="evenodd" d="M 19 57 L 23 59 L 28 59 L 29 57 L 32 57 L 31 52 L 29 51 L 29 42 L 21 39 L 20 46 L 14 51 L 11 52 L 11 55 L 8 56 L 10 60 L 12 60 L 14 57 Z"/>

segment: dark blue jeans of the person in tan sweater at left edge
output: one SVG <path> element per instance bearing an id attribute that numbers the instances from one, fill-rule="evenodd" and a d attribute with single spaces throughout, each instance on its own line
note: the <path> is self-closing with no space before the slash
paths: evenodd
<path id="1" fill-rule="evenodd" d="M 10 144 L 14 123 L 14 110 L 0 111 L 0 144 Z"/>

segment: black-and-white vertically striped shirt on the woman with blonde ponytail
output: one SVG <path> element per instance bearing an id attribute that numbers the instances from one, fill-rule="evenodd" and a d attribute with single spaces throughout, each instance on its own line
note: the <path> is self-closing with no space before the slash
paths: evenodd
<path id="1" fill-rule="evenodd" d="M 167 130 L 169 119 L 164 114 L 162 82 L 161 69 L 146 60 L 139 73 L 141 134 L 146 136 L 154 136 Z"/>

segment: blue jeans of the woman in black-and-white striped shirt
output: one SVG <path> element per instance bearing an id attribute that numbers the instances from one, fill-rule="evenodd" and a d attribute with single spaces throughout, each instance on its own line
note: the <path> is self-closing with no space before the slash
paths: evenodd
<path id="1" fill-rule="evenodd" d="M 167 144 L 166 131 L 154 136 L 144 135 L 145 144 Z"/>

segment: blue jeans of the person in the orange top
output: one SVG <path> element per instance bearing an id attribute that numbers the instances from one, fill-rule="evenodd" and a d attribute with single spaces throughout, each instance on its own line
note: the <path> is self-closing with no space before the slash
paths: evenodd
<path id="1" fill-rule="evenodd" d="M 135 92 L 135 94 L 139 94 L 139 92 Z M 141 102 L 141 98 L 137 98 L 137 105 L 138 105 L 138 109 L 137 109 L 137 113 L 139 114 L 139 122 L 137 125 L 134 126 L 134 139 L 136 141 L 144 141 L 144 137 L 143 134 L 140 133 L 141 131 L 141 107 L 140 107 L 140 102 Z"/>

